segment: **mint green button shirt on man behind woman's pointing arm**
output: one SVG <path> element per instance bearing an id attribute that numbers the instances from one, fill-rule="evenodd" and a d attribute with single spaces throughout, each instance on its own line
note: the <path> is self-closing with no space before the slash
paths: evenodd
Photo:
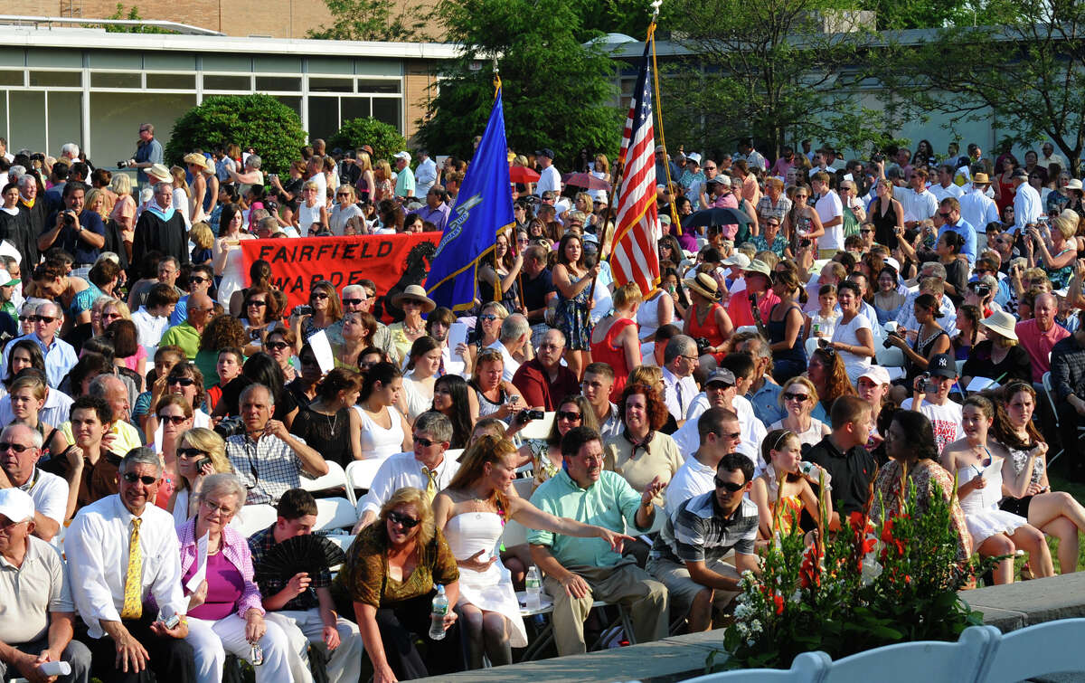
<path id="1" fill-rule="evenodd" d="M 532 495 L 532 504 L 554 517 L 566 517 L 586 524 L 624 532 L 637 527 L 640 494 L 617 472 L 603 470 L 599 481 L 582 489 L 562 469 Z M 641 529 L 647 531 L 647 529 Z M 563 567 L 613 567 L 622 556 L 602 539 L 578 539 L 551 531 L 529 530 L 527 542 L 550 546 L 550 553 Z"/>

